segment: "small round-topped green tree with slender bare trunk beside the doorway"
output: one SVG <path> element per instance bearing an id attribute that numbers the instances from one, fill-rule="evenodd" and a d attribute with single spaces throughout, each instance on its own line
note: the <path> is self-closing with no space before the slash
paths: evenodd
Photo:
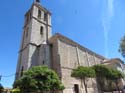
<path id="1" fill-rule="evenodd" d="M 83 84 L 85 86 L 85 91 L 86 93 L 88 93 L 86 81 L 87 78 L 95 77 L 95 71 L 91 67 L 79 66 L 78 68 L 73 69 L 71 76 L 81 79 L 81 81 L 83 81 Z"/>

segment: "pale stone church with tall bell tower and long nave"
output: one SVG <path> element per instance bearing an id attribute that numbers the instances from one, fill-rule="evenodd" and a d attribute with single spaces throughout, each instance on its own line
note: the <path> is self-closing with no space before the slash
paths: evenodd
<path id="1" fill-rule="evenodd" d="M 64 84 L 62 93 L 85 93 L 81 81 L 71 77 L 72 69 L 101 64 L 105 60 L 108 59 L 60 33 L 52 35 L 51 12 L 39 0 L 26 12 L 16 79 L 32 66 L 47 65 Z M 99 93 L 95 80 L 88 83 L 88 93 Z"/>

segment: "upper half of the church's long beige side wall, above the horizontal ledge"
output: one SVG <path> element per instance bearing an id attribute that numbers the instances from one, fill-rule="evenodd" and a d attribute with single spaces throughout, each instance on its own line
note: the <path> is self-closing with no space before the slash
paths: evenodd
<path id="1" fill-rule="evenodd" d="M 104 58 L 99 58 L 94 53 L 71 45 L 58 39 L 58 54 L 60 55 L 61 67 L 74 68 L 77 66 L 92 66 L 101 64 Z"/>

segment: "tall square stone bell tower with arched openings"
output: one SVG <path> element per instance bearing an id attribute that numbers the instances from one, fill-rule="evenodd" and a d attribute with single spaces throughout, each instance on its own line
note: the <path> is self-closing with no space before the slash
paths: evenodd
<path id="1" fill-rule="evenodd" d="M 48 39 L 50 37 L 51 13 L 40 5 L 40 0 L 35 0 L 25 14 L 16 79 L 22 75 L 24 70 L 38 65 L 41 46 L 48 46 Z"/>

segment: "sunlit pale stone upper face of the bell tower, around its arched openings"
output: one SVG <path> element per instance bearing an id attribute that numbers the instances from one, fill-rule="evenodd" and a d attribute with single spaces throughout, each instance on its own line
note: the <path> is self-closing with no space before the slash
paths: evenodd
<path id="1" fill-rule="evenodd" d="M 32 19 L 32 30 L 31 30 L 31 43 L 36 45 L 42 44 L 51 35 L 51 16 L 48 14 L 48 22 L 44 21 L 44 13 L 41 8 L 33 6 L 33 19 Z M 41 10 L 41 18 L 38 18 L 38 10 Z M 40 34 L 40 27 L 43 27 L 43 35 Z M 48 34 L 47 34 L 48 33 Z M 48 37 L 46 37 L 48 35 Z"/>

